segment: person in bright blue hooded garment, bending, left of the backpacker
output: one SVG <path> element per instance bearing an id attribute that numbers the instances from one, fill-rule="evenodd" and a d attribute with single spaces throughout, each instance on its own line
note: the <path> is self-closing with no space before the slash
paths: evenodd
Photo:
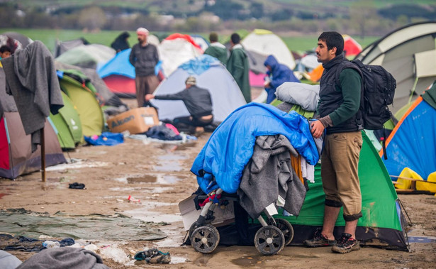
<path id="1" fill-rule="evenodd" d="M 268 93 L 267 104 L 276 99 L 275 92 L 284 82 L 300 82 L 289 67 L 277 62 L 273 55 L 269 55 L 264 62 L 267 67 L 267 77 L 265 77 L 264 87 Z"/>

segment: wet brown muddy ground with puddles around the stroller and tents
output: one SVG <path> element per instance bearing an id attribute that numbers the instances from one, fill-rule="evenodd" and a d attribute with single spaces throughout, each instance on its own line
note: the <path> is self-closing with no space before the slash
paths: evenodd
<path id="1" fill-rule="evenodd" d="M 362 248 L 336 254 L 330 248 L 289 246 L 279 255 L 262 256 L 254 246 L 218 246 L 213 253 L 203 255 L 191 246 L 181 246 L 186 232 L 178 204 L 198 187 L 189 169 L 210 133 L 197 135 L 197 141 L 181 145 L 126 138 L 118 146 L 79 146 L 65 153 L 67 160 L 76 163 L 47 168 L 46 182 L 41 181 L 40 172 L 16 180 L 0 178 L 0 209 L 48 214 L 121 213 L 168 224 L 160 226 L 167 238 L 159 241 L 108 242 L 101 238 L 88 242 L 99 247 L 97 253 L 110 268 L 436 268 L 436 197 L 426 194 L 399 195 L 414 224 L 409 236 L 430 242 L 410 243 L 410 252 Z M 86 189 L 69 189 L 72 182 L 83 183 Z M 113 251 L 105 251 L 103 246 Z M 152 247 L 169 252 L 172 263 L 150 265 L 129 258 Z M 10 253 L 20 260 L 35 254 Z"/>

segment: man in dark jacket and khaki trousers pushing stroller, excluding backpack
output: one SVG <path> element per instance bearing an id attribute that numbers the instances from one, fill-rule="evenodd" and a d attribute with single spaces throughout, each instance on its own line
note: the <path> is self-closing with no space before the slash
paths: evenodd
<path id="1" fill-rule="evenodd" d="M 343 68 L 347 59 L 343 53 L 344 39 L 337 32 L 324 32 L 318 38 L 315 53 L 323 63 L 320 81 L 319 119 L 311 123 L 313 137 L 325 133 L 321 155 L 321 178 L 325 192 L 322 231 L 306 246 L 332 246 L 332 251 L 349 253 L 360 249 L 356 240 L 357 221 L 362 217 L 362 194 L 358 175 L 359 154 L 362 148 L 359 112 L 362 98 L 362 74 L 356 67 Z M 340 71 L 339 82 L 336 74 Z M 343 207 L 345 229 L 335 240 L 333 229 Z"/>

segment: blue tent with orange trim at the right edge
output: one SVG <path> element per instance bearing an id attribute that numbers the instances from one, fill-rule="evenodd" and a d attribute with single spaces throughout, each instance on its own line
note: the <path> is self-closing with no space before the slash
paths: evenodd
<path id="1" fill-rule="evenodd" d="M 436 171 L 436 83 L 410 109 L 386 140 L 389 175 L 410 168 L 426 179 Z M 380 152 L 383 155 L 383 152 Z"/>

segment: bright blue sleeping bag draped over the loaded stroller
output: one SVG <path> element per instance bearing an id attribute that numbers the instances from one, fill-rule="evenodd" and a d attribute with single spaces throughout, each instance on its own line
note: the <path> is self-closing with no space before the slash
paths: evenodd
<path id="1" fill-rule="evenodd" d="M 191 172 L 197 175 L 203 192 L 220 187 L 235 193 L 242 170 L 252 157 L 257 136 L 276 134 L 286 136 L 309 164 L 318 162 L 318 150 L 306 118 L 295 111 L 287 114 L 269 104 L 246 104 L 216 128 L 194 160 Z M 216 183 L 212 182 L 213 177 Z"/>

